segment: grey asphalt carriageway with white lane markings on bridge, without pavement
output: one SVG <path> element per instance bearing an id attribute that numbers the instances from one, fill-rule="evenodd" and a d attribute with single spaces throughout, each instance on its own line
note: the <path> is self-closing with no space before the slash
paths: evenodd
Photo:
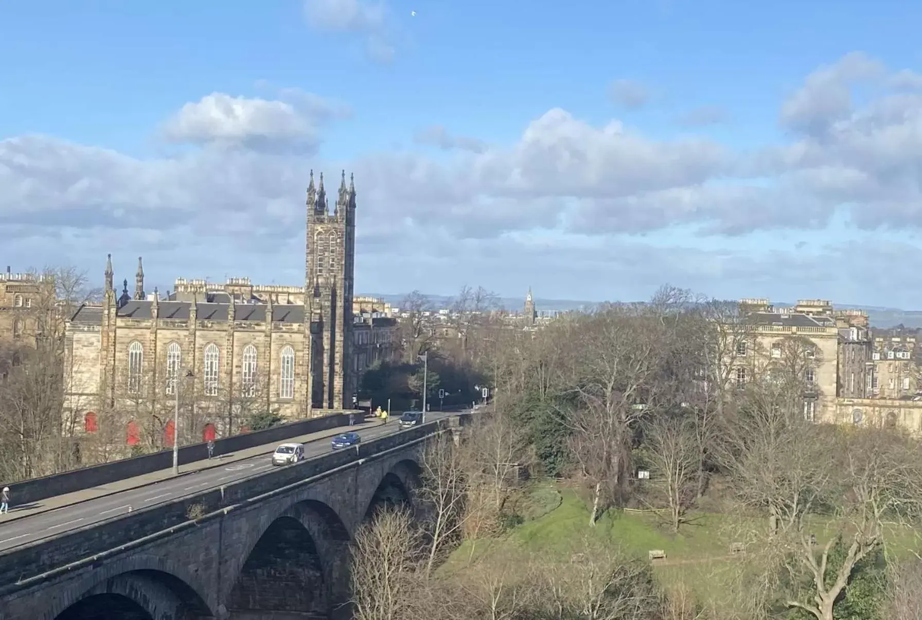
<path id="1" fill-rule="evenodd" d="M 426 422 L 433 422 L 451 415 L 457 415 L 457 412 L 431 411 L 426 414 Z M 356 431 L 361 435 L 362 441 L 367 441 L 397 433 L 400 429 L 397 419 L 391 418 L 386 424 L 369 425 L 365 423 L 361 427 L 344 426 L 339 429 L 342 433 L 349 430 Z M 332 436 L 334 434 L 327 433 L 323 438 L 304 442 L 305 456 L 311 459 L 333 451 L 330 445 Z M 131 510 L 157 506 L 184 495 L 194 495 L 257 475 L 260 472 L 266 472 L 273 469 L 270 461 L 271 455 L 266 454 L 266 451 L 272 450 L 280 443 L 299 439 L 299 437 L 292 437 L 276 444 L 267 444 L 262 454 L 247 459 L 200 469 L 186 475 L 168 477 L 155 483 L 145 483 L 143 486 L 128 488 L 118 493 L 102 495 L 89 500 L 76 499 L 75 503 L 21 519 L 6 522 L 0 520 L 0 554 L 23 544 L 34 543 L 65 531 L 77 530 L 93 523 L 113 519 Z M 79 493 L 69 495 L 79 495 Z"/>

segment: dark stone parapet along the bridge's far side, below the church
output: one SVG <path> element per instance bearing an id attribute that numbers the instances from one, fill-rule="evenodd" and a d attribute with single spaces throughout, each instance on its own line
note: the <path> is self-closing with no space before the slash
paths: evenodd
<path id="1" fill-rule="evenodd" d="M 229 454 L 236 450 L 248 447 L 271 444 L 299 435 L 307 435 L 317 431 L 324 431 L 337 426 L 349 424 L 349 416 L 344 413 L 325 415 L 320 418 L 301 420 L 281 424 L 264 431 L 233 435 L 215 442 L 215 455 Z M 179 462 L 181 465 L 195 460 L 207 459 L 207 445 L 195 444 L 194 446 L 181 447 Z M 19 504 L 28 504 L 46 497 L 73 493 L 82 489 L 89 489 L 100 484 L 112 483 L 124 478 L 144 475 L 153 471 L 166 470 L 172 467 L 172 450 L 162 450 L 134 459 L 122 459 L 95 465 L 81 470 L 66 471 L 52 476 L 35 478 L 10 485 L 10 491 Z M 2 582 L 2 580 L 0 580 Z"/>

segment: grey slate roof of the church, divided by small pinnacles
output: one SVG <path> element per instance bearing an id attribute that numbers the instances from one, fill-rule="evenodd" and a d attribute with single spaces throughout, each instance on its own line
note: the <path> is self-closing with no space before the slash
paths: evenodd
<path id="1" fill-rule="evenodd" d="M 147 300 L 132 300 L 118 309 L 117 316 L 140 319 L 151 318 L 151 304 L 152 302 Z M 160 318 L 188 320 L 190 305 L 189 302 L 160 301 L 158 316 Z M 199 320 L 228 320 L 229 304 L 207 304 L 203 302 L 195 305 L 196 316 Z M 266 304 L 235 304 L 234 320 L 263 322 L 266 320 Z M 272 320 L 277 323 L 303 323 L 304 306 L 301 304 L 276 304 L 272 308 Z M 102 308 L 99 306 L 83 306 L 77 310 L 71 321 L 99 325 L 102 322 Z"/>

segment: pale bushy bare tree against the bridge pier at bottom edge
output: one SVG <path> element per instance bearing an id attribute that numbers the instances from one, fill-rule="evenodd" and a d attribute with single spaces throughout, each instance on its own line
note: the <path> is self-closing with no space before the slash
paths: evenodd
<path id="1" fill-rule="evenodd" d="M 356 620 L 426 617 L 420 610 L 420 533 L 406 510 L 382 510 L 352 544 L 352 604 Z"/>

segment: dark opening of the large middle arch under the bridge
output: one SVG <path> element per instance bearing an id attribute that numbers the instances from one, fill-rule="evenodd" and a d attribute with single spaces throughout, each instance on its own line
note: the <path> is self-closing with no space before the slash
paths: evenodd
<path id="1" fill-rule="evenodd" d="M 234 613 L 328 617 L 349 598 L 349 530 L 333 508 L 303 500 L 245 547 L 227 597 Z"/>

